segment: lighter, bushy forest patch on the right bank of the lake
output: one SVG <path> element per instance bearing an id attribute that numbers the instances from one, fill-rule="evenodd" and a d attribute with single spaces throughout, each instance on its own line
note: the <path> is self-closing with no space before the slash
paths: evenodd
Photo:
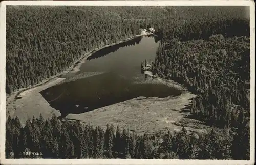
<path id="1" fill-rule="evenodd" d="M 236 126 L 239 111 L 249 113 L 250 45 L 245 36 L 161 43 L 155 71 L 198 94 L 191 114 L 222 128 Z M 249 114 L 247 114 L 249 116 Z"/>

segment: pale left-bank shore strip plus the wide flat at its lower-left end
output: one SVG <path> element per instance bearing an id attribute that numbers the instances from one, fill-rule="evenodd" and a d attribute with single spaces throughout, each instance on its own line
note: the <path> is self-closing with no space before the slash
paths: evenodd
<path id="1" fill-rule="evenodd" d="M 59 78 L 63 75 L 66 75 L 68 73 L 75 73 L 79 71 L 80 66 L 86 61 L 86 59 L 88 57 L 90 57 L 94 52 L 109 47 L 109 46 L 113 46 L 113 45 L 117 45 L 119 43 L 122 42 L 126 42 L 129 40 L 132 40 L 136 37 L 139 36 L 144 36 L 144 35 L 148 35 L 146 33 L 142 33 L 140 35 L 136 35 L 130 38 L 127 38 L 125 40 L 119 41 L 117 43 L 113 43 L 110 45 L 105 45 L 103 47 L 100 47 L 98 49 L 92 50 L 90 53 L 86 53 L 83 56 L 81 56 L 71 67 L 69 67 L 67 70 L 58 73 L 57 75 L 51 76 L 49 78 L 46 78 L 45 80 L 43 80 L 42 82 L 33 85 L 33 86 L 29 86 L 23 89 L 19 89 L 16 92 L 13 92 L 11 95 L 6 95 L 6 117 L 8 117 L 9 115 L 11 117 L 15 117 L 18 116 L 20 119 L 24 118 L 22 120 L 27 120 L 28 118 L 31 118 L 31 116 L 33 117 L 33 115 L 35 117 L 39 117 L 38 114 L 40 114 L 42 111 L 45 111 L 45 109 L 48 109 L 47 113 L 44 112 L 43 117 L 48 118 L 49 116 L 52 115 L 53 112 L 57 113 L 58 111 L 56 111 L 55 109 L 53 109 L 52 107 L 49 106 L 49 104 L 46 102 L 46 100 L 40 95 L 40 91 L 45 90 L 49 87 L 52 87 L 56 84 L 59 84 L 61 81 L 65 80 L 66 78 Z M 26 97 L 25 97 L 26 96 Z M 24 103 L 23 103 L 24 102 Z M 42 108 L 44 110 L 40 110 L 38 113 L 35 113 L 35 107 L 37 107 L 37 104 L 35 105 L 34 102 L 37 102 L 37 104 L 39 105 L 40 103 L 42 103 L 38 108 Z M 23 104 L 23 105 L 21 105 Z M 28 106 L 27 106 L 28 105 Z M 20 112 L 18 112 L 17 109 L 21 109 Z M 16 111 L 16 112 L 15 112 Z M 51 111 L 51 113 L 49 113 Z M 22 113 L 21 113 L 22 112 Z M 25 113 L 26 112 L 26 113 Z M 30 112 L 30 113 L 29 113 Z M 25 113 L 25 114 L 23 114 Z M 27 115 L 26 115 L 27 114 Z M 58 112 L 57 114 L 60 115 L 60 113 Z M 57 116 L 59 116 L 57 115 Z M 27 117 L 25 117 L 27 116 Z"/>

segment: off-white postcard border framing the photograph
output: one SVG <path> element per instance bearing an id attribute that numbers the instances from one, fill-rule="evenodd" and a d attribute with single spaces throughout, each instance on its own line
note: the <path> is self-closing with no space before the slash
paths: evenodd
<path id="1" fill-rule="evenodd" d="M 250 160 L 174 159 L 6 159 L 5 158 L 5 63 L 6 6 L 250 6 Z M 2 1 L 0 8 L 0 163 L 1 164 L 254 164 L 255 153 L 255 4 L 253 1 Z"/>

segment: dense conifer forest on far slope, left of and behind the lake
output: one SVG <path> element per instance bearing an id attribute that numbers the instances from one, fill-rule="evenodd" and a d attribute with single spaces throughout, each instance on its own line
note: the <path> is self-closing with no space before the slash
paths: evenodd
<path id="1" fill-rule="evenodd" d="M 84 53 L 138 35 L 140 28 L 154 27 L 162 38 L 242 35 L 249 31 L 241 18 L 246 14 L 236 6 L 7 6 L 6 93 L 65 71 Z M 233 24 L 244 31 L 232 30 Z"/>

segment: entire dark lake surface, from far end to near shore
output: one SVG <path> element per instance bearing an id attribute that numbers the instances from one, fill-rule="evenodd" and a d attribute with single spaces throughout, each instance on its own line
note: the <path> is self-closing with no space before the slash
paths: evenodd
<path id="1" fill-rule="evenodd" d="M 141 62 L 154 60 L 158 45 L 154 37 L 145 36 L 101 49 L 81 65 L 79 72 L 67 75 L 66 82 L 40 93 L 50 106 L 60 110 L 62 116 L 92 111 L 139 96 L 180 95 L 179 90 L 149 82 L 141 72 Z M 97 74 L 86 77 L 89 73 Z"/>

